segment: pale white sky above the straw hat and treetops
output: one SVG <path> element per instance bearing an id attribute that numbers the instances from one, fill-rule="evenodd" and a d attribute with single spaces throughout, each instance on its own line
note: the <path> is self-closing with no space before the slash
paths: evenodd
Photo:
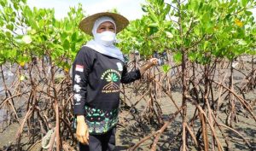
<path id="1" fill-rule="evenodd" d="M 136 20 L 143 16 L 141 4 L 145 3 L 145 0 L 27 0 L 27 3 L 31 7 L 54 8 L 55 17 L 58 19 L 67 15 L 69 7 L 82 3 L 86 15 L 117 9 L 128 20 Z M 256 18 L 256 8 L 251 11 Z"/>

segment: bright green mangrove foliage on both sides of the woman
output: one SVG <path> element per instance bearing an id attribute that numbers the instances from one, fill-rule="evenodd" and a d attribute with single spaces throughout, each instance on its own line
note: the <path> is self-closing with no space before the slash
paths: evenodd
<path id="1" fill-rule="evenodd" d="M 168 50 L 180 63 L 185 50 L 190 61 L 203 64 L 215 57 L 232 60 L 255 55 L 253 0 L 146 2 L 145 15 L 118 35 L 118 46 L 125 54 L 138 50 L 150 57 L 154 51 Z M 80 4 L 61 20 L 55 19 L 54 9 L 30 8 L 26 0 L 3 0 L 0 8 L 0 64 L 22 64 L 32 56 L 50 55 L 55 65 L 70 67 L 81 45 L 90 39 L 78 30 L 84 17 Z"/>

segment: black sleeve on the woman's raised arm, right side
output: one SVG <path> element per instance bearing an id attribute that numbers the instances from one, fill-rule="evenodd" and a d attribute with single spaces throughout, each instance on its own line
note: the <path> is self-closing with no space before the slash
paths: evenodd
<path id="1" fill-rule="evenodd" d="M 121 78 L 121 83 L 123 84 L 129 84 L 137 79 L 141 78 L 141 73 L 139 69 L 136 69 L 135 71 L 127 72 L 127 67 L 123 67 L 123 73 Z"/>

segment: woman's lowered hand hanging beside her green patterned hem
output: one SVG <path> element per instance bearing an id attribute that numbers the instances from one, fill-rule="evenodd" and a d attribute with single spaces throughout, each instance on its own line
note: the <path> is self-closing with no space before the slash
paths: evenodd
<path id="1" fill-rule="evenodd" d="M 83 144 L 89 144 L 89 130 L 88 130 L 88 125 L 85 123 L 84 120 L 84 115 L 78 115 L 77 116 L 77 139 L 79 142 Z"/>

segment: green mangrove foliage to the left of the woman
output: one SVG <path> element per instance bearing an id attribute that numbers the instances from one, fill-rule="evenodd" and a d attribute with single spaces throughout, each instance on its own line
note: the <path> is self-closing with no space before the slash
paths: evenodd
<path id="1" fill-rule="evenodd" d="M 33 56 L 49 55 L 56 66 L 69 68 L 81 45 L 89 39 L 78 28 L 84 17 L 81 4 L 70 8 L 61 20 L 55 19 L 54 9 L 31 9 L 26 0 L 4 0 L 0 4 L 0 64 L 24 64 Z"/>

